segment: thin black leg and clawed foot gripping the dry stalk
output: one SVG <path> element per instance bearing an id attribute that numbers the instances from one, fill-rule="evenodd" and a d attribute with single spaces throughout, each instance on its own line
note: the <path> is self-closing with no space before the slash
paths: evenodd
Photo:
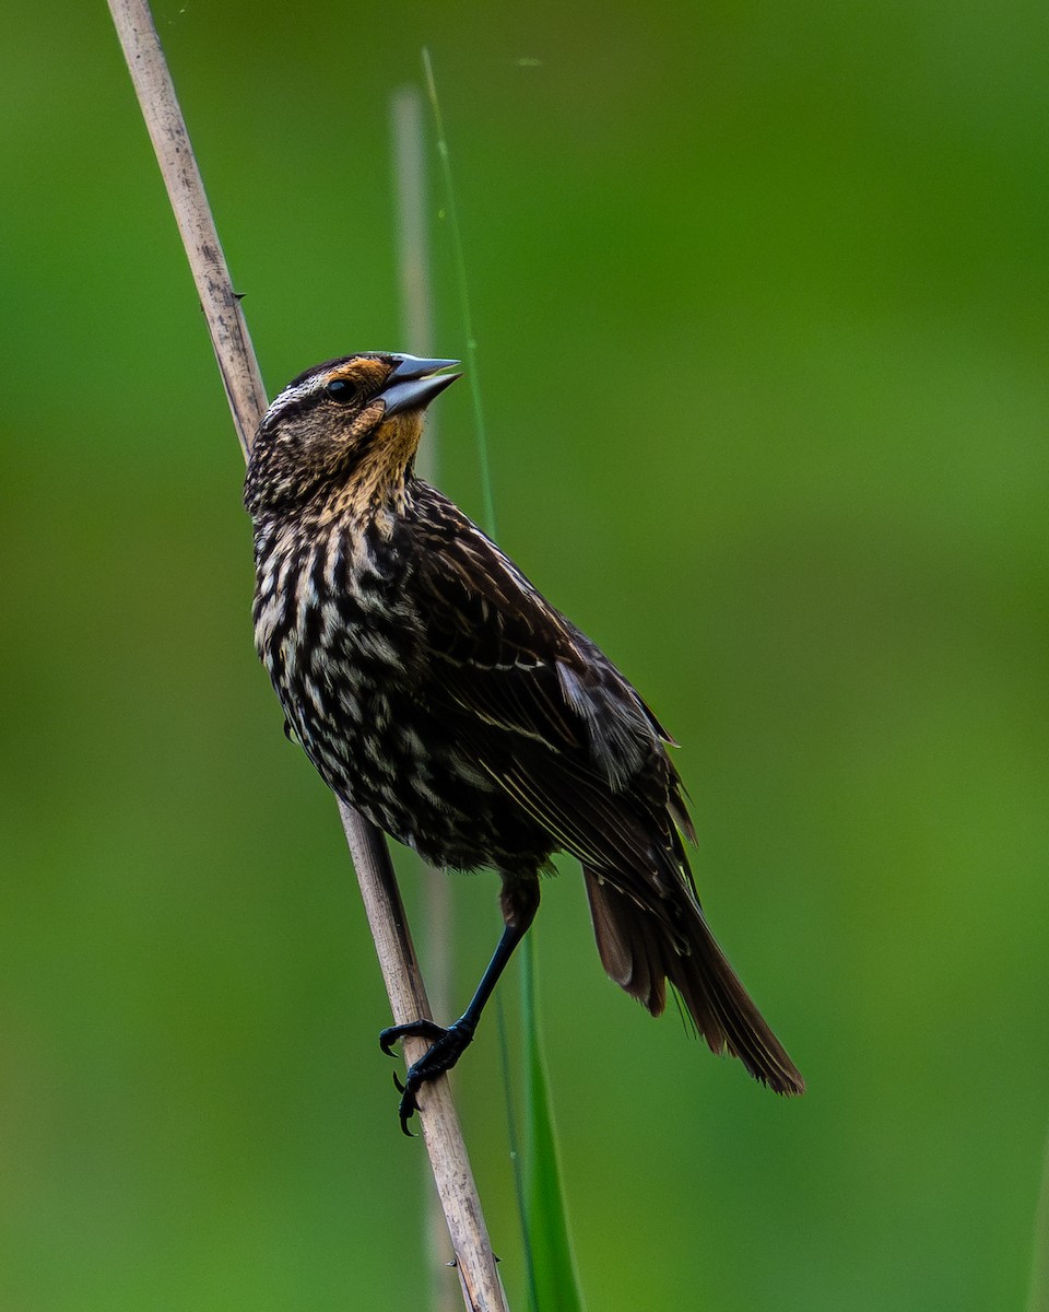
<path id="1" fill-rule="evenodd" d="M 473 1031 L 481 1018 L 485 1002 L 492 996 L 492 991 L 498 983 L 500 975 L 506 968 L 506 963 L 514 954 L 514 949 L 528 932 L 528 926 L 535 920 L 539 907 L 539 879 L 536 875 L 504 875 L 502 892 L 500 895 L 502 918 L 505 929 L 492 954 L 492 960 L 485 967 L 481 983 L 469 1000 L 469 1006 L 458 1021 L 447 1029 L 434 1021 L 409 1021 L 406 1025 L 392 1025 L 379 1035 L 379 1047 L 388 1056 L 397 1039 L 418 1038 L 430 1039 L 430 1047 L 424 1055 L 408 1068 L 404 1084 L 395 1076 L 393 1080 L 401 1092 L 401 1130 L 410 1136 L 408 1128 L 410 1117 L 420 1110 L 417 1094 L 427 1080 L 435 1080 L 446 1071 L 451 1071 L 463 1052 L 473 1042 Z"/>

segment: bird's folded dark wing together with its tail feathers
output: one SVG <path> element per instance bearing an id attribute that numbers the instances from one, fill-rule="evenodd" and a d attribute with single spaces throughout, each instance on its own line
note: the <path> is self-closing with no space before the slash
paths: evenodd
<path id="1" fill-rule="evenodd" d="M 611 977 L 654 1014 L 669 979 L 711 1048 L 776 1092 L 800 1093 L 801 1076 L 700 911 L 667 735 L 611 661 L 451 502 L 425 488 L 420 509 L 408 592 L 425 632 L 429 710 L 580 859 Z"/>

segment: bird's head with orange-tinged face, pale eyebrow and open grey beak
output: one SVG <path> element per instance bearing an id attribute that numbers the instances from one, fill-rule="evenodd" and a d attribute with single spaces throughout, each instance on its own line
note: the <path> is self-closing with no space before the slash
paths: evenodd
<path id="1" fill-rule="evenodd" d="M 244 484 L 249 513 L 316 499 L 367 510 L 396 495 L 412 468 L 424 411 L 462 377 L 443 373 L 458 363 L 370 352 L 299 374 L 258 425 Z"/>

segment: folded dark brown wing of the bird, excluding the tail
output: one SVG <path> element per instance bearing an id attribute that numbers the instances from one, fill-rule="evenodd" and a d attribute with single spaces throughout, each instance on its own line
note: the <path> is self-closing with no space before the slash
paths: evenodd
<path id="1" fill-rule="evenodd" d="M 420 509 L 408 588 L 429 708 L 559 846 L 660 914 L 667 882 L 688 878 L 671 816 L 691 836 L 667 735 L 480 529 L 430 488 Z"/>

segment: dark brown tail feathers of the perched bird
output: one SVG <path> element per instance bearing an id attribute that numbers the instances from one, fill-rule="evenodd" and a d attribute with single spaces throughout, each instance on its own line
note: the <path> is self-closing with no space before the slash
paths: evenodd
<path id="1" fill-rule="evenodd" d="M 608 975 L 653 1015 L 666 1005 L 666 980 L 713 1052 L 738 1057 L 776 1093 L 805 1092 L 805 1081 L 772 1034 L 691 895 L 682 888 L 674 933 L 607 879 L 584 866 L 594 937 Z M 675 900 L 677 901 L 677 900 Z M 675 946 L 674 939 L 684 945 Z"/>

